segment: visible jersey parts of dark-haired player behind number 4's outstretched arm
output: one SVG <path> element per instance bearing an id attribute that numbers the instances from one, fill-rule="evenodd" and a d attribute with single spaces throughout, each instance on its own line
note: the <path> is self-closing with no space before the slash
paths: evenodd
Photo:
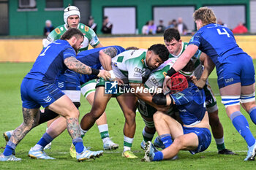
<path id="1" fill-rule="evenodd" d="M 182 42 L 182 50 L 178 55 L 169 55 L 169 58 L 178 58 L 179 56 L 181 56 L 181 54 L 184 52 L 184 50 L 187 48 L 188 43 L 187 42 Z M 191 60 L 193 61 L 193 63 L 195 64 L 195 71 L 193 72 L 193 74 L 195 75 L 195 77 L 197 77 L 197 79 L 199 79 L 203 73 L 203 65 L 201 64 L 200 61 L 200 55 L 201 55 L 201 51 L 197 50 L 197 52 L 195 53 L 194 56 L 192 56 Z"/>

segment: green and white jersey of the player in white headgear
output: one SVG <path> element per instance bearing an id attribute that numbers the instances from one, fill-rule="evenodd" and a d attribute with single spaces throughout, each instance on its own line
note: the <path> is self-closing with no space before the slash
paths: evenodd
<path id="1" fill-rule="evenodd" d="M 92 47 L 99 45 L 99 39 L 95 34 L 94 30 L 89 28 L 88 26 L 84 25 L 83 23 L 78 24 L 78 29 L 83 33 L 84 40 L 82 46 L 79 51 L 88 50 L 89 44 Z M 48 46 L 50 43 L 54 42 L 57 39 L 60 39 L 61 36 L 67 31 L 66 24 L 62 26 L 58 26 L 47 37 L 45 41 L 44 47 Z"/>

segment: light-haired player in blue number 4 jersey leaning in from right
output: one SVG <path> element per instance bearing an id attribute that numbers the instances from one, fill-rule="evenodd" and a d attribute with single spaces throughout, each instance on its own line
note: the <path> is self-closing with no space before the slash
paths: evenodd
<path id="1" fill-rule="evenodd" d="M 246 117 L 240 111 L 242 107 L 249 113 L 256 124 L 255 105 L 255 69 L 252 58 L 236 44 L 232 31 L 217 24 L 213 10 L 200 7 L 194 12 L 197 33 L 192 36 L 189 44 L 173 67 L 167 72 L 163 88 L 170 86 L 170 76 L 182 69 L 197 50 L 201 50 L 211 58 L 217 69 L 219 92 L 222 97 L 227 116 L 248 145 L 244 161 L 254 161 L 256 155 L 255 137 L 249 129 Z M 211 64 L 211 63 L 210 63 Z M 213 64 L 211 64 L 214 66 Z M 206 82 L 210 73 L 205 69 L 201 81 Z"/>

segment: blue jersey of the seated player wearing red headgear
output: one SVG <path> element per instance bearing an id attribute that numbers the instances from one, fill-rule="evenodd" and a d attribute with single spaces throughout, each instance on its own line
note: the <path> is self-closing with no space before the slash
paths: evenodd
<path id="1" fill-rule="evenodd" d="M 199 123 L 206 113 L 206 95 L 196 85 L 189 82 L 185 90 L 171 95 L 185 125 Z"/>

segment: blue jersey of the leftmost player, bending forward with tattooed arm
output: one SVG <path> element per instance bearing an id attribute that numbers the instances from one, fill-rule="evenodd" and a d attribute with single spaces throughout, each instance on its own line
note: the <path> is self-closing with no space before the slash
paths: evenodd
<path id="1" fill-rule="evenodd" d="M 69 42 L 59 39 L 42 50 L 25 78 L 49 83 L 56 82 L 57 75 L 67 69 L 64 59 L 75 56 L 75 50 Z"/>

